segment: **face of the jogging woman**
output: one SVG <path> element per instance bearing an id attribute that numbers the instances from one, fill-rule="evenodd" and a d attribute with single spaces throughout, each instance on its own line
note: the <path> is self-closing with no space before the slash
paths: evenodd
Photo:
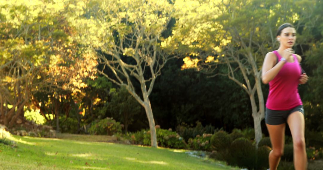
<path id="1" fill-rule="evenodd" d="M 277 40 L 281 45 L 291 48 L 296 42 L 296 30 L 292 27 L 287 27 L 282 30 L 280 35 L 277 36 Z"/>

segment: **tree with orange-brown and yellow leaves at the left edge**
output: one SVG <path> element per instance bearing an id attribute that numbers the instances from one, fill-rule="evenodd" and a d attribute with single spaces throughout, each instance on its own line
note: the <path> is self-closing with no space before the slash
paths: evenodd
<path id="1" fill-rule="evenodd" d="M 50 93 L 58 100 L 61 96 L 57 89 L 78 92 L 86 87 L 82 79 L 94 78 L 97 62 L 91 53 L 81 52 L 78 44 L 70 41 L 73 30 L 60 15 L 62 2 L 3 2 L 0 122 L 12 127 L 25 120 L 24 106 L 34 104 L 41 108 L 36 93 Z M 40 113 L 46 118 L 44 112 Z"/>

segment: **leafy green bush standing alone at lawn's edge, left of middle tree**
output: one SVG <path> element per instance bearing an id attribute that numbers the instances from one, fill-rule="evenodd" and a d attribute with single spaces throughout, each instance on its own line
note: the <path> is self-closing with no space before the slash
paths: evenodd
<path id="1" fill-rule="evenodd" d="M 113 118 L 105 118 L 99 122 L 92 122 L 89 133 L 92 135 L 113 135 L 121 133 L 122 127 L 120 122 L 116 122 Z"/>

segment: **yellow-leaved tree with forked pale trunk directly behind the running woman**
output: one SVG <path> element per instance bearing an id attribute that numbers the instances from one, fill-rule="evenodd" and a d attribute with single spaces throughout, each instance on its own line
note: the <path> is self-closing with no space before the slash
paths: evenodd
<path id="1" fill-rule="evenodd" d="M 186 54 L 185 67 L 191 64 L 213 76 L 227 76 L 245 90 L 250 98 L 258 143 L 262 138 L 260 123 L 265 116 L 261 89 L 263 58 L 278 45 L 274 31 L 277 25 L 296 23 L 298 29 L 310 15 L 299 3 L 310 6 L 311 2 L 191 0 L 185 1 L 184 7 L 182 3 L 174 4 L 179 19 L 173 36 L 163 42 L 165 48 L 175 46 L 177 52 Z M 296 7 L 291 9 L 290 6 Z M 226 72 L 216 73 L 218 64 L 227 65 Z M 243 79 L 237 79 L 236 74 Z"/>

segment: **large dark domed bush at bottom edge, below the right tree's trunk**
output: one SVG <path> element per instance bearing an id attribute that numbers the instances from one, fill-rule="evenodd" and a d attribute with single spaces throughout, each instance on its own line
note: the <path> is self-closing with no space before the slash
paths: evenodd
<path id="1" fill-rule="evenodd" d="M 230 146 L 232 158 L 228 160 L 230 165 L 238 165 L 248 169 L 254 169 L 256 160 L 256 148 L 246 138 L 235 139 Z"/>

